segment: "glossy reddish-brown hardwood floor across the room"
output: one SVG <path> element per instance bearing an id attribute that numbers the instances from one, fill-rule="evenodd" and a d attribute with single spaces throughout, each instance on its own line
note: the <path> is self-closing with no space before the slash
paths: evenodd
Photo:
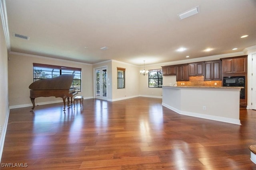
<path id="1" fill-rule="evenodd" d="M 256 111 L 242 125 L 179 115 L 158 98 L 11 109 L 1 169 L 256 170 Z M 3 166 L 24 166 L 3 167 Z"/>

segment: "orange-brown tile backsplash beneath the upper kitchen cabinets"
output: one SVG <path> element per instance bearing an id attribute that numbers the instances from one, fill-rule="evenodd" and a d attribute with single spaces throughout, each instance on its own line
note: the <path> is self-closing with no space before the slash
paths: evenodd
<path id="1" fill-rule="evenodd" d="M 216 85 L 215 85 L 216 83 Z M 177 86 L 214 86 L 221 87 L 222 81 L 204 81 L 204 76 L 190 76 L 189 81 L 177 82 Z"/>

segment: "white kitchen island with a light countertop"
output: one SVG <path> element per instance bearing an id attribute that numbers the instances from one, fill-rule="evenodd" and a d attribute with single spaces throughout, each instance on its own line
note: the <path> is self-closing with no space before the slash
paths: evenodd
<path id="1" fill-rule="evenodd" d="M 241 88 L 162 86 L 162 106 L 181 115 L 241 125 Z"/>

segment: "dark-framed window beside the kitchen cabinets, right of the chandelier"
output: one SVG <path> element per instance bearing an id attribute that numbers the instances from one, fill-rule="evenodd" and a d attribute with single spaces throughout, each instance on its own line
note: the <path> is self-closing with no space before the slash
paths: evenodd
<path id="1" fill-rule="evenodd" d="M 148 87 L 162 87 L 163 72 L 162 69 L 149 70 L 148 72 Z"/>

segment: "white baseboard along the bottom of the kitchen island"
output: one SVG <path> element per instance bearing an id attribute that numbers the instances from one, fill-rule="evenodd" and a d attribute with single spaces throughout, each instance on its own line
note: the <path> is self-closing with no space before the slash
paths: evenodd
<path id="1" fill-rule="evenodd" d="M 198 118 L 202 118 L 202 119 L 210 119 L 210 120 L 214 120 L 214 121 L 221 121 L 221 122 L 241 125 L 239 119 L 232 119 L 232 118 L 213 116 L 213 115 L 204 115 L 204 114 L 193 113 L 193 112 L 188 112 L 188 111 L 180 111 L 179 109 L 176 109 L 176 108 L 169 106 L 168 104 L 165 104 L 165 103 L 162 103 L 162 106 L 167 107 L 168 109 L 171 109 L 172 111 L 175 111 L 176 113 L 179 113 L 180 115 L 187 115 L 187 116 L 198 117 Z"/>

